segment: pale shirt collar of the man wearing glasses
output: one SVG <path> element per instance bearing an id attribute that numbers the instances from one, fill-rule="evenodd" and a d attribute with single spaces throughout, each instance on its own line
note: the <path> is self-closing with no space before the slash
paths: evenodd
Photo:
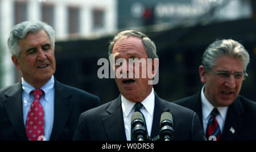
<path id="1" fill-rule="evenodd" d="M 204 95 L 204 87 L 201 90 L 201 101 L 202 101 L 202 112 L 203 112 L 203 119 L 207 120 L 210 116 L 210 112 L 212 112 L 213 105 L 205 98 Z M 225 120 L 226 113 L 228 112 L 228 107 L 216 107 L 218 109 L 218 112 L 220 112 L 221 118 Z"/>

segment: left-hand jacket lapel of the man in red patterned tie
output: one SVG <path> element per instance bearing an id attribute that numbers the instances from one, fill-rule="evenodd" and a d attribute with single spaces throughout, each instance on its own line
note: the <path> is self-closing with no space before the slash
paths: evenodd
<path id="1" fill-rule="evenodd" d="M 18 133 L 20 140 L 27 141 L 27 133 L 24 128 L 23 108 L 22 108 L 22 86 L 16 83 L 6 91 L 7 99 L 3 102 L 6 113 L 9 116 L 11 124 Z"/>

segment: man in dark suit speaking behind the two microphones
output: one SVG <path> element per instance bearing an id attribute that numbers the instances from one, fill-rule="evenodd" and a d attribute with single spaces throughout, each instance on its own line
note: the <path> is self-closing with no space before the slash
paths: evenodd
<path id="1" fill-rule="evenodd" d="M 110 43 L 109 58 L 121 94 L 112 102 L 82 113 L 73 140 L 133 140 L 131 115 L 137 105 L 151 138 L 159 134 L 161 114 L 170 112 L 175 130 L 172 140 L 205 140 L 195 112 L 160 99 L 154 92 L 159 61 L 155 44 L 146 35 L 133 30 L 118 33 Z"/>

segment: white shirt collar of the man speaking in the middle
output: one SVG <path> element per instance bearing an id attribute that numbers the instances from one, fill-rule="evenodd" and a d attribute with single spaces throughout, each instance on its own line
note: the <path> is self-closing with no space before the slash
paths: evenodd
<path id="1" fill-rule="evenodd" d="M 122 101 L 123 113 L 127 117 L 129 116 L 129 113 L 131 112 L 131 109 L 133 109 L 135 103 L 130 102 L 123 95 L 121 95 L 121 101 Z M 146 111 L 150 114 L 150 116 L 152 116 L 154 112 L 154 107 L 155 107 L 154 88 L 152 88 L 151 93 L 141 103 L 143 104 L 143 107 L 146 109 Z"/>

